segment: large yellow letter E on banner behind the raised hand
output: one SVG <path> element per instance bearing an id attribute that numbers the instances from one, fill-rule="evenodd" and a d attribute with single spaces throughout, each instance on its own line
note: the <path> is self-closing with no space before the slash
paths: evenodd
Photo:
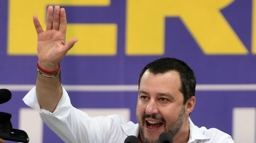
<path id="1" fill-rule="evenodd" d="M 36 14 L 43 29 L 47 5 L 109 6 L 110 0 L 9 0 L 9 55 L 36 55 L 37 36 L 33 26 Z M 82 16 L 82 13 L 77 13 Z M 77 37 L 79 42 L 68 54 L 115 55 L 117 53 L 116 24 L 68 24 L 66 40 Z"/>

